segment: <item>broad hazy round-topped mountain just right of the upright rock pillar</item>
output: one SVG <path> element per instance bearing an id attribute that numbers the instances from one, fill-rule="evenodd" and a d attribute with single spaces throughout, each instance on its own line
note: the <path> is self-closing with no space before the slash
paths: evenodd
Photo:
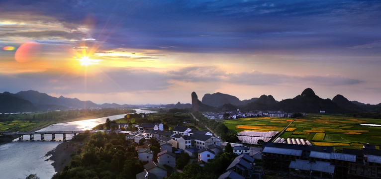
<path id="1" fill-rule="evenodd" d="M 229 95 L 229 94 L 224 94 L 221 92 L 216 92 L 213 94 L 204 94 L 202 97 L 201 102 L 203 104 L 209 105 L 209 106 L 214 106 L 214 107 L 219 107 L 222 106 L 223 104 L 233 104 L 233 105 L 243 105 L 247 104 L 250 102 L 254 102 L 258 98 L 251 98 L 251 99 L 245 99 L 245 100 L 239 100 L 238 97 Z"/>

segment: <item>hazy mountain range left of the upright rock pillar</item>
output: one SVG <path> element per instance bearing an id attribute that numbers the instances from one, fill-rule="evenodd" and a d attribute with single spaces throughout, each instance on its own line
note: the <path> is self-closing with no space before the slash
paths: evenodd
<path id="1" fill-rule="evenodd" d="M 20 91 L 15 94 L 10 92 L 0 93 L 0 113 L 110 107 L 137 108 L 139 106 L 116 103 L 95 104 L 90 100 L 82 101 L 78 98 L 67 98 L 62 95 L 54 97 L 35 90 Z M 191 104 L 178 102 L 177 104 L 166 104 L 164 107 L 191 108 Z"/>

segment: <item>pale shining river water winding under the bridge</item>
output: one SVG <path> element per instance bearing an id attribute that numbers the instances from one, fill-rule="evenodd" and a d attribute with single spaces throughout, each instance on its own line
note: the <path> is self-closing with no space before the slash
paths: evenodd
<path id="1" fill-rule="evenodd" d="M 135 110 L 137 113 L 155 112 Z M 124 115 L 53 124 L 38 131 L 91 130 L 96 125 L 104 123 L 106 118 L 115 120 L 123 118 Z M 71 139 L 73 135 L 66 134 L 66 139 Z M 24 135 L 23 141 L 15 139 L 11 143 L 0 145 L 0 179 L 25 179 L 30 174 L 37 174 L 40 179 L 52 178 L 56 173 L 51 165 L 53 161 L 47 160 L 50 156 L 45 157 L 45 155 L 62 143 L 62 134 L 56 134 L 55 137 L 54 141 L 50 141 L 52 135 L 45 135 L 45 141 L 40 141 L 41 136 L 34 135 L 35 141 L 29 141 L 29 135 Z"/>

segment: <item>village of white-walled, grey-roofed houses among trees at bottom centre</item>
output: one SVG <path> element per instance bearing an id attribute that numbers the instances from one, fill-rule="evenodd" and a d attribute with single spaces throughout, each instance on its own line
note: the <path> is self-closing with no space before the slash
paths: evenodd
<path id="1" fill-rule="evenodd" d="M 106 133 L 116 132 L 124 134 L 126 140 L 138 144 L 136 151 L 138 159 L 144 163 L 144 171 L 137 174 L 137 179 L 161 179 L 171 176 L 176 167 L 176 159 L 182 153 L 187 153 L 191 160 L 203 166 L 209 159 L 213 159 L 225 150 L 226 145 L 237 157 L 218 179 L 261 179 L 263 171 L 261 167 L 255 166 L 255 158 L 260 159 L 260 148 L 247 147 L 242 144 L 227 144 L 213 136 L 211 132 L 192 130 L 188 127 L 176 126 L 172 132 L 164 131 L 162 123 L 135 125 L 134 132 L 124 131 L 126 123 L 112 123 L 115 130 L 106 130 Z M 154 152 L 150 150 L 152 141 L 159 142 L 160 152 L 157 160 Z M 157 161 L 157 162 L 155 162 Z M 179 171 L 178 171 L 179 172 Z M 180 171 L 181 172 L 181 171 Z"/>

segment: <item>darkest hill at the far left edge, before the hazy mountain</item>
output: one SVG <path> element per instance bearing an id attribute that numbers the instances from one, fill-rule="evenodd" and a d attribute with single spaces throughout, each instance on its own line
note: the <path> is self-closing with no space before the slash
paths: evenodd
<path id="1" fill-rule="evenodd" d="M 37 107 L 30 101 L 10 92 L 0 93 L 0 113 L 34 112 Z"/>

